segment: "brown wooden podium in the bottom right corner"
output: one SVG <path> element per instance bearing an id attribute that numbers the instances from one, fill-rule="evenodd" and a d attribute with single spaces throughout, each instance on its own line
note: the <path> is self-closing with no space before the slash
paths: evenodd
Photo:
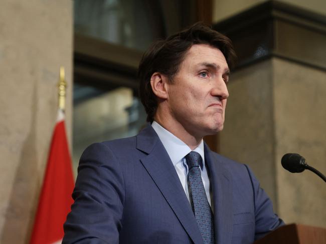
<path id="1" fill-rule="evenodd" d="M 287 224 L 256 240 L 254 244 L 326 244 L 326 229 Z"/>

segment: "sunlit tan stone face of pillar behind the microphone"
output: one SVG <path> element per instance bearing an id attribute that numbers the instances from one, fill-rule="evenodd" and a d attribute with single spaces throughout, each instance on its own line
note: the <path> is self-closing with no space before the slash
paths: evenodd
<path id="1" fill-rule="evenodd" d="M 289 222 L 326 227 L 324 181 L 309 170 L 290 173 L 280 159 L 297 152 L 326 174 L 326 72 L 273 60 L 273 121 L 278 210 Z"/>

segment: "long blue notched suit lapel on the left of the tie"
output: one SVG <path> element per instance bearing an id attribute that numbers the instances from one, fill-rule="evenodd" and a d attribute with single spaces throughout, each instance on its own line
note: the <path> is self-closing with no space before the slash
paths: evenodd
<path id="1" fill-rule="evenodd" d="M 148 125 L 137 135 L 137 149 L 148 153 L 140 159 L 143 166 L 177 215 L 194 243 L 203 243 L 197 221 L 179 176 L 156 132 Z"/>

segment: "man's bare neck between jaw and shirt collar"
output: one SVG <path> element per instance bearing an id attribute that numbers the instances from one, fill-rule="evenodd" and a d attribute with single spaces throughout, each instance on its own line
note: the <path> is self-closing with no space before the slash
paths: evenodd
<path id="1" fill-rule="evenodd" d="M 171 119 L 167 114 L 156 112 L 154 120 L 185 142 L 192 150 L 194 150 L 203 139 L 203 136 L 193 135 L 180 122 Z"/>

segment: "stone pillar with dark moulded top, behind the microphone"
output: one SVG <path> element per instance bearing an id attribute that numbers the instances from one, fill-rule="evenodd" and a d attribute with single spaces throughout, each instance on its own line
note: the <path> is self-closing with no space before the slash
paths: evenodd
<path id="1" fill-rule="evenodd" d="M 287 152 L 326 173 L 326 18 L 265 2 L 217 23 L 239 62 L 219 152 L 247 163 L 286 223 L 326 227 L 325 183 L 282 168 Z"/>

